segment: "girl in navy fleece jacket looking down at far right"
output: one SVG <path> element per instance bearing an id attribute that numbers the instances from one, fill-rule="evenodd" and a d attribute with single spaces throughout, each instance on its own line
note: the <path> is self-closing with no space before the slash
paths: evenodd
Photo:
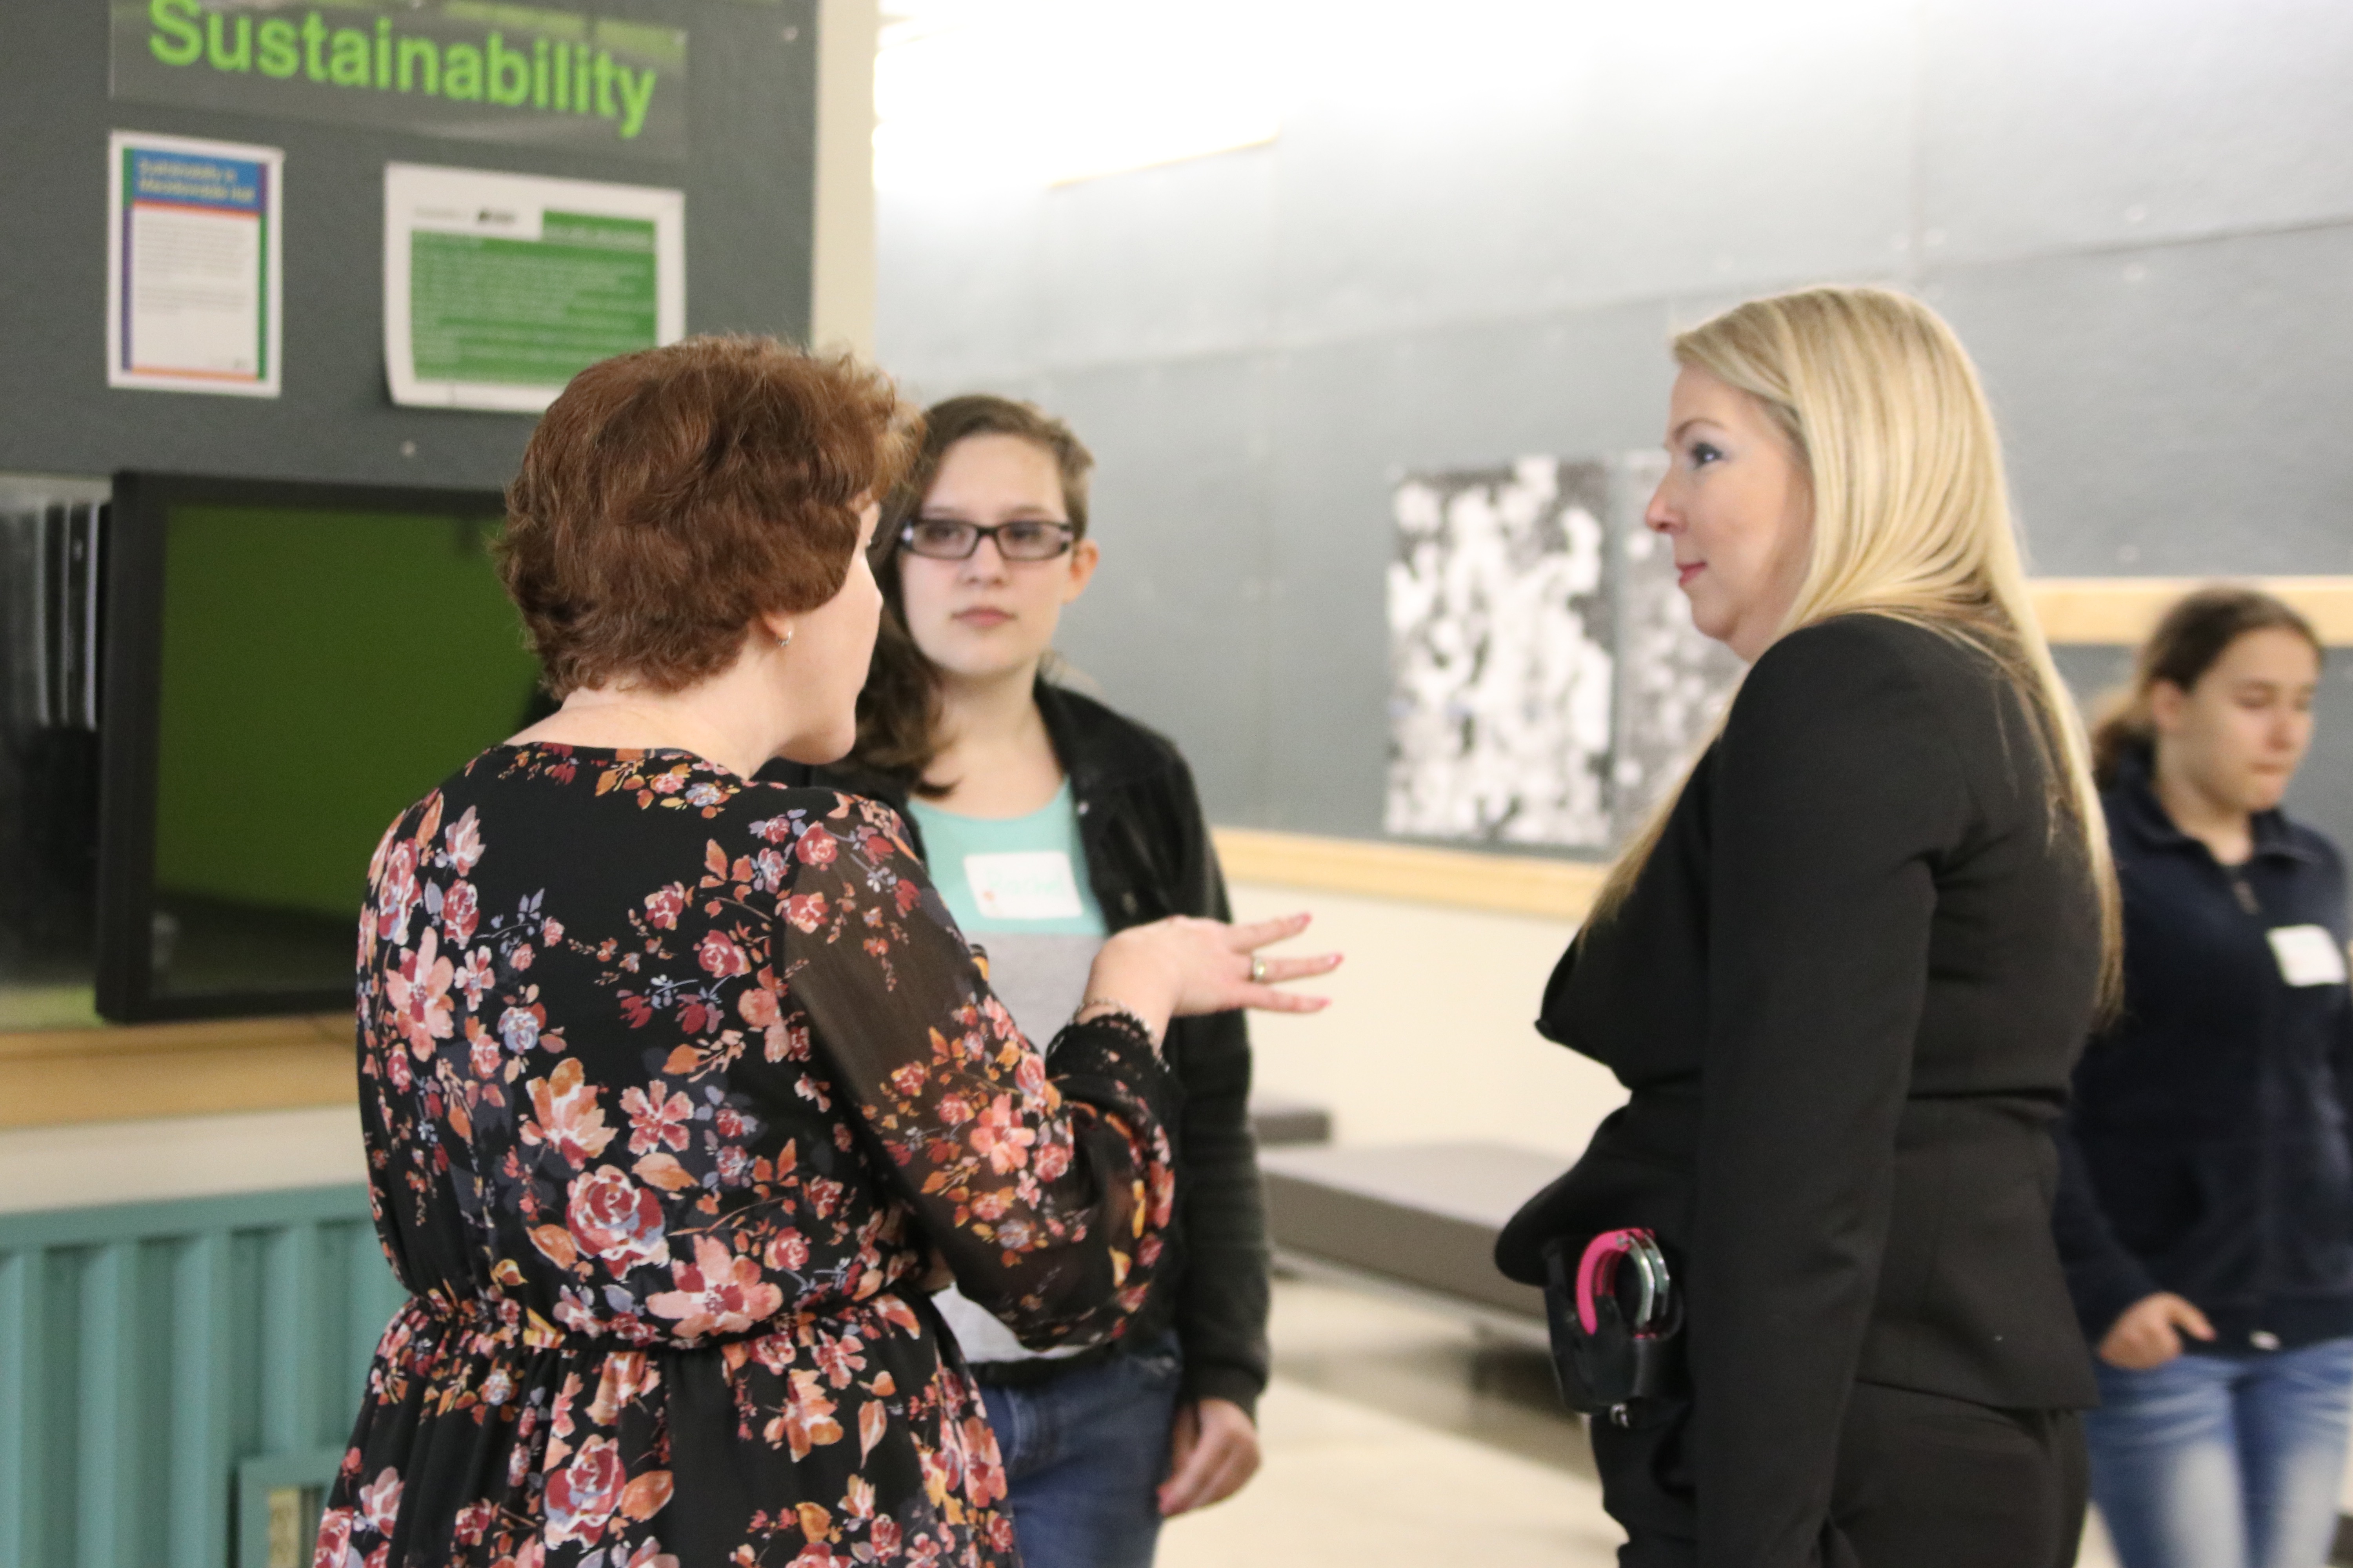
<path id="1" fill-rule="evenodd" d="M 2097 736 L 2125 1009 L 2075 1072 L 2059 1246 L 2125 1568 L 2318 1568 L 2353 1403 L 2344 860 L 2280 797 L 2320 639 L 2195 592 Z"/>

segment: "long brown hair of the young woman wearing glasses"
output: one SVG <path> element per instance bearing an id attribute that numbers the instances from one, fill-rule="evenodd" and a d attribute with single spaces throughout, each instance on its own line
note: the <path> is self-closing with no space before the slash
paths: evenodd
<path id="1" fill-rule="evenodd" d="M 875 635 L 875 658 L 859 693 L 859 743 L 849 762 L 904 783 L 915 795 L 946 790 L 922 780 L 939 755 L 939 665 L 925 658 L 906 630 L 906 599 L 899 588 L 899 529 L 922 508 L 948 447 L 969 435 L 1019 435 L 1035 442 L 1061 473 L 1061 508 L 1075 538 L 1087 536 L 1087 477 L 1094 454 L 1045 409 L 993 393 L 965 393 L 934 402 L 922 414 L 922 447 L 882 501 L 882 527 L 875 529 L 875 583 L 882 585 L 882 630 Z"/>

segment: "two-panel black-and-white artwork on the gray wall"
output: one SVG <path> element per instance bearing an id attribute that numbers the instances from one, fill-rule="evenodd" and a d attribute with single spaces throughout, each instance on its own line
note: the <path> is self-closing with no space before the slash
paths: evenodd
<path id="1" fill-rule="evenodd" d="M 1664 461 L 1398 482 L 1388 832 L 1607 853 L 1680 785 L 1741 663 L 1642 524 Z"/>

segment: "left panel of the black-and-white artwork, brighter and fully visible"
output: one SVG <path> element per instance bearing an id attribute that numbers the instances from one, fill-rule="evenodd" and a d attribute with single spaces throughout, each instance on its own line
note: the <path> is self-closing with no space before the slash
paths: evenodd
<path id="1" fill-rule="evenodd" d="M 1605 463 L 1520 458 L 1398 482 L 1388 832 L 1609 844 L 1607 510 Z"/>

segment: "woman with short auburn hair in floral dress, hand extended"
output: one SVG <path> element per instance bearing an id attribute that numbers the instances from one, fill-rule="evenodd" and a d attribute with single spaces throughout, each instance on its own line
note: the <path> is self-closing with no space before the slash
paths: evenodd
<path id="1" fill-rule="evenodd" d="M 1165 1255 L 1169 1018 L 1318 1006 L 1299 919 L 1104 945 L 1052 1072 L 894 811 L 831 762 L 906 461 L 889 386 L 760 339 L 581 371 L 504 574 L 562 708 L 384 835 L 360 1114 L 412 1300 L 322 1568 L 1014 1563 L 946 1265 L 1033 1345 L 1118 1338 Z M 431 607 L 419 635 L 431 639 Z"/>

